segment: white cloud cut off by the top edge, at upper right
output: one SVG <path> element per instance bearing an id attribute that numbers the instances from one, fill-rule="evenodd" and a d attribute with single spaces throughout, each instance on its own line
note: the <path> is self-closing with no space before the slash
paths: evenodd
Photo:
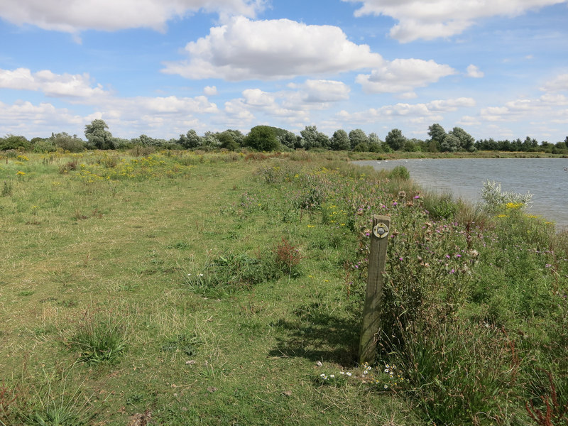
<path id="1" fill-rule="evenodd" d="M 398 23 L 391 37 L 406 43 L 459 34 L 476 20 L 490 16 L 518 16 L 568 0 L 343 0 L 361 4 L 355 16 L 385 15 Z"/>

